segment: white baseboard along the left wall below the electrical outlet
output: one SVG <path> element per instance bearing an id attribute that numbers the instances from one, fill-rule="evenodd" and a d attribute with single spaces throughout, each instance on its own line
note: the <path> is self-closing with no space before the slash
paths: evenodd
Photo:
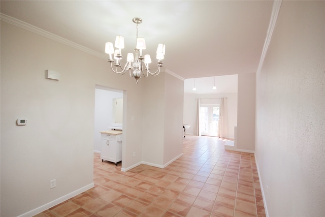
<path id="1" fill-rule="evenodd" d="M 40 206 L 40 207 L 38 207 L 36 209 L 30 210 L 30 211 L 28 211 L 28 212 L 26 212 L 24 214 L 21 214 L 18 217 L 20 217 L 20 216 L 23 216 L 23 217 L 34 216 L 34 215 L 36 215 L 38 213 L 41 213 L 41 212 L 43 212 L 43 211 L 45 211 L 45 210 L 59 204 L 59 203 L 62 203 L 63 201 L 69 200 L 70 198 L 73 198 L 73 197 L 75 197 L 75 196 L 77 196 L 77 195 L 79 195 L 79 194 L 93 188 L 93 187 L 94 187 L 94 183 L 92 182 L 92 183 L 90 183 L 90 184 L 88 184 L 88 185 L 86 185 L 86 186 L 84 186 L 84 187 L 82 187 L 80 189 L 77 189 L 74 192 L 71 192 L 71 193 L 69 193 L 67 195 L 64 195 L 64 196 L 62 196 L 60 198 L 57 198 L 57 199 L 55 199 L 55 200 L 53 200 L 53 201 L 51 201 L 51 202 L 49 202 L 47 204 L 44 204 L 44 205 L 42 205 L 42 206 Z"/>

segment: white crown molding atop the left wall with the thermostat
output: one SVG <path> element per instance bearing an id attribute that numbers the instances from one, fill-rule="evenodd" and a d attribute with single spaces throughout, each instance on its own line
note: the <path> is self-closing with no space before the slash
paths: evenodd
<path id="1" fill-rule="evenodd" d="M 69 40 L 64 39 L 64 38 L 62 38 L 60 36 L 54 35 L 54 34 L 52 34 L 50 32 L 45 31 L 44 29 L 41 29 L 39 27 L 36 27 L 34 25 L 31 25 L 29 23 L 26 23 L 24 21 L 16 19 L 14 17 L 8 16 L 6 14 L 1 13 L 1 21 L 7 22 L 9 24 L 18 26 L 18 27 L 23 28 L 23 29 L 26 29 L 26 30 L 28 30 L 28 31 L 30 31 L 32 33 L 36 33 L 36 34 L 38 34 L 40 36 L 44 36 L 44 37 L 52 39 L 52 40 L 54 40 L 56 42 L 68 45 L 68 46 L 73 47 L 73 48 L 76 48 L 76 49 L 81 50 L 81 51 L 83 51 L 85 53 L 88 53 L 90 55 L 94 55 L 94 56 L 97 56 L 97 57 L 100 57 L 100 58 L 103 58 L 103 59 L 108 58 L 105 54 L 102 54 L 100 52 L 91 50 L 91 49 L 89 49 L 87 47 L 84 47 L 84 46 L 82 46 L 80 44 L 69 41 Z"/>

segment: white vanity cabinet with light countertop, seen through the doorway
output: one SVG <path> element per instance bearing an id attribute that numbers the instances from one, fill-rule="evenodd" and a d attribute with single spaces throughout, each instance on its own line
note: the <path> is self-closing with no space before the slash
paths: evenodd
<path id="1" fill-rule="evenodd" d="M 117 165 L 122 161 L 122 132 L 101 131 L 101 159 L 102 162 L 110 161 Z"/>

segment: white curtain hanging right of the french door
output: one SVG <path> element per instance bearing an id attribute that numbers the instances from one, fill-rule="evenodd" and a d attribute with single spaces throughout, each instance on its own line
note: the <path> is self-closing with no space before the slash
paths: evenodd
<path id="1" fill-rule="evenodd" d="M 228 138 L 228 99 L 220 99 L 218 133 L 220 138 Z"/>

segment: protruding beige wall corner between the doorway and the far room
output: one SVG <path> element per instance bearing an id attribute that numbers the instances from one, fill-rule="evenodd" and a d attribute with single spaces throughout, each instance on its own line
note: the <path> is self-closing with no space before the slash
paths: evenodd
<path id="1" fill-rule="evenodd" d="M 143 161 L 164 167 L 182 154 L 184 81 L 163 72 L 145 82 Z"/>

